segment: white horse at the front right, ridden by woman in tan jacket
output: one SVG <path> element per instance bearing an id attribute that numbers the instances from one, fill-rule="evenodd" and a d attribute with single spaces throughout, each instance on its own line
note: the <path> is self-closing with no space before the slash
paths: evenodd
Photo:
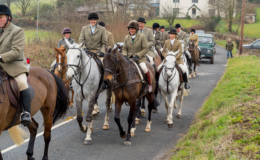
<path id="1" fill-rule="evenodd" d="M 173 51 L 169 52 L 168 49 L 166 48 L 167 56 L 165 57 L 165 66 L 160 74 L 159 84 L 158 84 L 161 90 L 161 94 L 164 98 L 165 108 L 167 111 L 167 119 L 165 124 L 168 124 L 167 126 L 169 128 L 173 127 L 172 109 L 173 107 L 178 108 L 178 105 L 176 104 L 176 96 L 177 96 L 178 88 L 180 88 L 180 106 L 179 106 L 177 118 L 181 118 L 181 104 L 183 101 L 183 96 L 188 95 L 187 91 L 184 88 L 184 82 L 180 81 L 179 73 L 175 68 L 175 63 L 176 63 L 175 56 L 178 54 L 179 51 L 180 50 L 176 52 Z M 188 72 L 188 67 L 186 66 L 185 63 L 184 63 L 184 68 L 185 71 Z M 167 99 L 167 94 L 171 95 L 170 113 L 169 113 L 169 103 Z"/>

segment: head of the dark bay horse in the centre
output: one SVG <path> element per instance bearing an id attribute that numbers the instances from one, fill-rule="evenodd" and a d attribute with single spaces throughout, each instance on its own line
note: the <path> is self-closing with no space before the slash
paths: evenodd
<path id="1" fill-rule="evenodd" d="M 113 75 L 115 74 L 116 70 L 119 67 L 119 58 L 118 56 L 121 56 L 117 50 L 120 47 L 119 44 L 116 44 L 117 46 L 115 49 L 107 48 L 107 45 L 105 44 L 105 51 L 106 54 L 103 58 L 103 64 L 104 64 L 104 78 L 103 81 L 106 85 L 109 85 L 111 82 L 111 79 Z M 123 56 L 123 55 L 122 55 Z"/>

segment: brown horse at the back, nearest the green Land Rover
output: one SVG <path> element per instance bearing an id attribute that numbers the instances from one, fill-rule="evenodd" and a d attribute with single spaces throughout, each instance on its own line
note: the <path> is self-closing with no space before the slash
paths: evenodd
<path id="1" fill-rule="evenodd" d="M 192 63 L 194 63 L 194 67 L 193 67 L 194 71 L 193 71 L 193 74 L 191 71 L 191 73 L 189 74 L 189 78 L 191 78 L 192 75 L 193 75 L 193 78 L 195 78 L 196 74 L 197 74 L 196 66 L 200 66 L 198 63 L 200 56 L 199 56 L 199 51 L 197 50 L 197 47 L 195 47 L 194 41 L 192 41 L 192 40 L 189 41 L 188 51 L 191 55 Z"/>

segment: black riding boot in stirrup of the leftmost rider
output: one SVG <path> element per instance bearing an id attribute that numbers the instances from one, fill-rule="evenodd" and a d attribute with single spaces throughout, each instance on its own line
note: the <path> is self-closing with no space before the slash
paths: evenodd
<path id="1" fill-rule="evenodd" d="M 20 91 L 20 101 L 22 103 L 22 107 L 24 108 L 24 112 L 20 116 L 21 124 L 24 127 L 28 127 L 31 124 L 31 100 L 30 100 L 30 92 L 29 88 Z"/>

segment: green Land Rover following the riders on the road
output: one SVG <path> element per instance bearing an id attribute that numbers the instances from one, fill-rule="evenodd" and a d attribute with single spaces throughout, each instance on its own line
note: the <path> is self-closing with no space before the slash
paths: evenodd
<path id="1" fill-rule="evenodd" d="M 201 49 L 201 57 L 210 60 L 210 64 L 214 63 L 214 54 L 216 53 L 216 42 L 211 34 L 197 34 L 199 36 L 198 46 Z"/>

